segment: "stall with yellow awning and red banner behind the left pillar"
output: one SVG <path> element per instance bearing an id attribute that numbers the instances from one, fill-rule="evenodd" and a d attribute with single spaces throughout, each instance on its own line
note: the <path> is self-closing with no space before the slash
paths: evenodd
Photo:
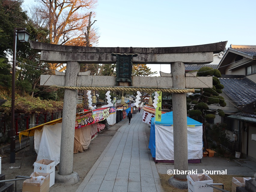
<path id="1" fill-rule="evenodd" d="M 101 131 L 104 126 L 98 122 L 109 116 L 109 107 L 90 110 L 76 114 L 74 153 L 83 152 L 88 149 L 90 142 L 97 136 L 97 131 Z M 61 138 L 62 118 L 38 125 L 34 128 L 21 131 L 19 137 L 35 136 L 35 151 L 37 161 L 49 159 L 59 163 L 60 138 Z M 54 146 L 54 147 L 53 147 Z"/>

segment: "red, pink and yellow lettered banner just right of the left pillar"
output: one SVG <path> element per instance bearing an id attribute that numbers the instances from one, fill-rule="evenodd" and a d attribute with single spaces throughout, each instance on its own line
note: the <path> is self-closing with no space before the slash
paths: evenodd
<path id="1" fill-rule="evenodd" d="M 87 114 L 81 114 L 76 117 L 75 129 L 103 121 L 109 116 L 109 107 L 102 110 L 96 110 Z"/>

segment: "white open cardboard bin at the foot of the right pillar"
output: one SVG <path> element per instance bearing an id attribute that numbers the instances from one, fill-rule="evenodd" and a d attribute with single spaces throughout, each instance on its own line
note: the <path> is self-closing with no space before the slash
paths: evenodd
<path id="1" fill-rule="evenodd" d="M 213 180 L 206 174 L 187 175 L 187 187 L 189 192 L 213 192 L 213 188 L 207 186 L 207 183 L 213 183 Z"/>

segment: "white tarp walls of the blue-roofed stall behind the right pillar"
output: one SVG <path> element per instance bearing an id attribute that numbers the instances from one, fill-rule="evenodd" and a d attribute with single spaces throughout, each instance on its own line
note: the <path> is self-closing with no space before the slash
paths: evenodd
<path id="1" fill-rule="evenodd" d="M 156 160 L 175 160 L 173 153 L 173 126 L 155 125 L 155 136 Z M 203 158 L 202 137 L 202 126 L 187 126 L 188 159 Z"/>

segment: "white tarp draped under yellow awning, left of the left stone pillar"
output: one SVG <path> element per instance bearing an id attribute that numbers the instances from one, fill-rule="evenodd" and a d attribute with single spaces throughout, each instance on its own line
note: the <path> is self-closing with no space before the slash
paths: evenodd
<path id="1" fill-rule="evenodd" d="M 59 163 L 60 158 L 60 138 L 62 123 L 55 125 L 44 125 L 40 130 L 35 130 L 35 151 L 37 159 L 48 159 L 55 161 L 55 165 Z"/>

